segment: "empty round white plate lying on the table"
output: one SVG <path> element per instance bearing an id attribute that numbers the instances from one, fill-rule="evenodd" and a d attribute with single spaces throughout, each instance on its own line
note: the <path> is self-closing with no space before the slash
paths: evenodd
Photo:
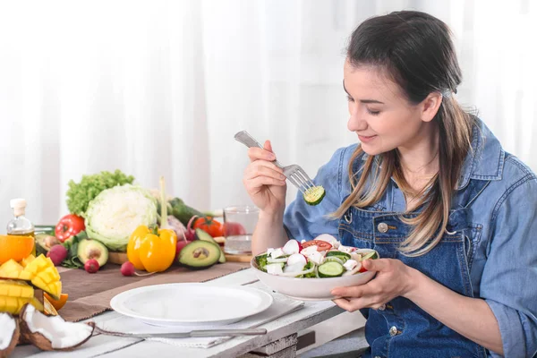
<path id="1" fill-rule="evenodd" d="M 268 309 L 273 298 L 252 287 L 166 284 L 117 294 L 115 311 L 154 326 L 221 326 Z"/>

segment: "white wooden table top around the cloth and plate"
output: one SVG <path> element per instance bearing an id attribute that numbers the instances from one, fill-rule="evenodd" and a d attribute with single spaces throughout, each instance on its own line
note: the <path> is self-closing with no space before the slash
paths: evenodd
<path id="1" fill-rule="evenodd" d="M 245 285 L 257 281 L 251 268 L 244 269 L 225 277 L 219 277 L 206 285 Z M 135 338 L 110 337 L 98 335 L 79 347 L 74 352 L 42 352 L 32 345 L 17 347 L 13 357 L 294 357 L 296 353 L 297 332 L 311 328 L 325 320 L 342 313 L 343 310 L 331 301 L 307 302 L 303 309 L 294 311 L 285 317 L 273 320 L 261 326 L 267 328 L 267 335 L 254 337 L 235 337 L 210 348 L 190 348 L 167 345 L 159 342 L 144 341 Z M 105 322 L 117 318 L 119 313 L 107 311 L 91 320 Z"/>

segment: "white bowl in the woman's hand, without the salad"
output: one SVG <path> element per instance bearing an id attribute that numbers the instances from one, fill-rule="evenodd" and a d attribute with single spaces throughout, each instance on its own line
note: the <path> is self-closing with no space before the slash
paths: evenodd
<path id="1" fill-rule="evenodd" d="M 360 286 L 375 276 L 374 271 L 365 271 L 351 276 L 323 277 L 323 278 L 297 278 L 270 275 L 261 271 L 255 257 L 250 261 L 251 268 L 260 281 L 271 290 L 285 294 L 300 301 L 328 301 L 337 298 L 330 294 L 336 287 Z"/>

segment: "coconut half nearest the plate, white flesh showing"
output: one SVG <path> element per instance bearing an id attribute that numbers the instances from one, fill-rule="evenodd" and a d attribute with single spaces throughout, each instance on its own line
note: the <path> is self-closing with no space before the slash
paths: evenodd
<path id="1" fill-rule="evenodd" d="M 22 308 L 20 317 L 22 337 L 44 351 L 71 351 L 93 334 L 93 327 L 86 323 L 46 316 L 30 304 Z"/>

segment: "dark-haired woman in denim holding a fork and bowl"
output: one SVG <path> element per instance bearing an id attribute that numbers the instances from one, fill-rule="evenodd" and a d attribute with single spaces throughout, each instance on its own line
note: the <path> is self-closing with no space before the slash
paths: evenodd
<path id="1" fill-rule="evenodd" d="M 270 142 L 249 149 L 254 252 L 325 233 L 379 251 L 363 263 L 374 279 L 332 292 L 367 318 L 365 356 L 537 351 L 537 178 L 459 107 L 460 82 L 445 23 L 418 12 L 371 18 L 354 30 L 344 67 L 360 144 L 320 168 L 320 205 L 299 194 L 285 210 Z"/>

